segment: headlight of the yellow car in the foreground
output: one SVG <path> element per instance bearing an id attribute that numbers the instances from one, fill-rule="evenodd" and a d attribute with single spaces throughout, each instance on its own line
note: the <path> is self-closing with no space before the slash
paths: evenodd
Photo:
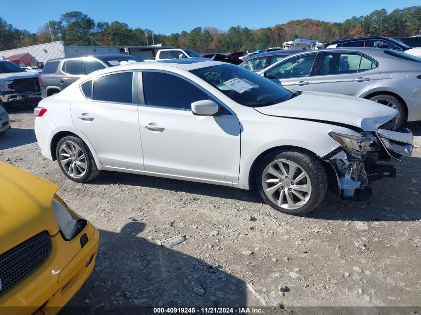
<path id="1" fill-rule="evenodd" d="M 79 232 L 79 217 L 57 195 L 54 195 L 51 201 L 51 207 L 63 238 L 65 240 L 73 239 Z"/>

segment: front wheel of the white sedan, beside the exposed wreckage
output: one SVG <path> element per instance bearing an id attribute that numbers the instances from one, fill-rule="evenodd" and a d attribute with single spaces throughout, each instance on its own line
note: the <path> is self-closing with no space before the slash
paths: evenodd
<path id="1" fill-rule="evenodd" d="M 326 195 L 326 171 L 315 156 L 303 150 L 269 154 L 260 163 L 256 178 L 263 200 L 287 214 L 305 214 Z"/>

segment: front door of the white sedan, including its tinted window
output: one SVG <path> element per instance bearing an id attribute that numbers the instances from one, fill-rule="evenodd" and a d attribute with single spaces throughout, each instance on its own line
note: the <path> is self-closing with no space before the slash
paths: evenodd
<path id="1" fill-rule="evenodd" d="M 240 123 L 222 104 L 221 114 L 197 116 L 191 103 L 211 96 L 174 73 L 143 71 L 138 82 L 145 171 L 237 182 Z"/>

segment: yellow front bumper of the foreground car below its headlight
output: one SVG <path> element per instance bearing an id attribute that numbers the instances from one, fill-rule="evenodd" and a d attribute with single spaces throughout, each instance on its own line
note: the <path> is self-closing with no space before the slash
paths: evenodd
<path id="1" fill-rule="evenodd" d="M 83 234 L 88 236 L 88 242 L 80 248 Z M 0 297 L 2 311 L 10 315 L 39 311 L 44 315 L 57 314 L 92 273 L 98 240 L 99 232 L 90 223 L 71 241 L 64 241 L 59 233 L 52 236 L 52 250 L 47 260 Z"/>

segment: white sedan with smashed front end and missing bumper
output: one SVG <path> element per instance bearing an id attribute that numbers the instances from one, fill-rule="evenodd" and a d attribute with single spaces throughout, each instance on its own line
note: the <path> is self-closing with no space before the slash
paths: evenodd
<path id="1" fill-rule="evenodd" d="M 411 131 L 383 129 L 397 114 L 349 96 L 292 92 L 235 65 L 182 59 L 80 79 L 41 101 L 35 135 L 75 182 L 104 170 L 256 185 L 274 209 L 303 214 L 328 184 L 362 199 L 368 185 L 394 176 L 377 161 L 411 154 Z"/>

